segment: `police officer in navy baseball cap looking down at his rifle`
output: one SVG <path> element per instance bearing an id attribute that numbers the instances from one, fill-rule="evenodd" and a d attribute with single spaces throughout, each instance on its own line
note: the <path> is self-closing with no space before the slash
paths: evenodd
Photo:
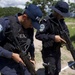
<path id="1" fill-rule="evenodd" d="M 22 13 L 0 18 L 0 72 L 2 75 L 31 75 L 18 54 L 17 44 L 19 43 L 22 51 L 25 51 L 25 40 L 28 37 L 31 38 L 27 29 L 32 28 L 30 31 L 33 35 L 33 27 L 39 29 L 38 19 L 41 17 L 40 8 L 30 4 Z"/>

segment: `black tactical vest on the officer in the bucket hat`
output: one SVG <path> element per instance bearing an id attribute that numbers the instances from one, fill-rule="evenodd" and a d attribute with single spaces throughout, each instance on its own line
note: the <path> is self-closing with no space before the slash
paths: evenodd
<path id="1" fill-rule="evenodd" d="M 54 35 L 60 34 L 59 26 L 57 26 L 58 24 L 54 22 L 49 16 L 46 16 L 43 21 L 45 22 L 46 26 L 48 26 L 48 29 L 46 30 L 46 34 L 54 34 Z M 55 43 L 54 40 L 52 39 L 43 41 L 44 48 L 49 48 L 49 47 L 51 48 L 54 46 L 54 44 L 57 45 L 57 43 Z"/>

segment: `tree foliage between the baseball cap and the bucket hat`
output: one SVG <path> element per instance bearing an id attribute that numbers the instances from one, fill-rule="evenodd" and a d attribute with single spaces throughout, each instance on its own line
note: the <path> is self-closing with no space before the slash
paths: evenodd
<path id="1" fill-rule="evenodd" d="M 44 15 L 46 15 L 51 10 L 49 8 L 56 3 L 55 0 L 31 0 L 31 2 L 35 5 L 38 5 Z"/>

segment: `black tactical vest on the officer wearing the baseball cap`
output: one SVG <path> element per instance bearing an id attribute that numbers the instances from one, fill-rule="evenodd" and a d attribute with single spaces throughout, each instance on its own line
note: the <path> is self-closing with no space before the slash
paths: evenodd
<path id="1" fill-rule="evenodd" d="M 9 16 L 10 28 L 6 30 L 6 43 L 4 48 L 13 52 L 27 50 L 31 44 L 31 40 L 27 38 L 25 29 L 16 21 L 15 16 Z"/>

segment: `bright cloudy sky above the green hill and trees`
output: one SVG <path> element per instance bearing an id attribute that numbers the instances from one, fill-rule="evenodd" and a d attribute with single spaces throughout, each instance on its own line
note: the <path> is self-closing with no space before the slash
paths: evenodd
<path id="1" fill-rule="evenodd" d="M 0 0 L 0 7 L 19 7 L 24 9 L 25 3 L 30 0 Z M 68 0 L 64 0 L 68 2 Z M 75 0 L 70 0 L 71 2 L 75 2 Z"/>

